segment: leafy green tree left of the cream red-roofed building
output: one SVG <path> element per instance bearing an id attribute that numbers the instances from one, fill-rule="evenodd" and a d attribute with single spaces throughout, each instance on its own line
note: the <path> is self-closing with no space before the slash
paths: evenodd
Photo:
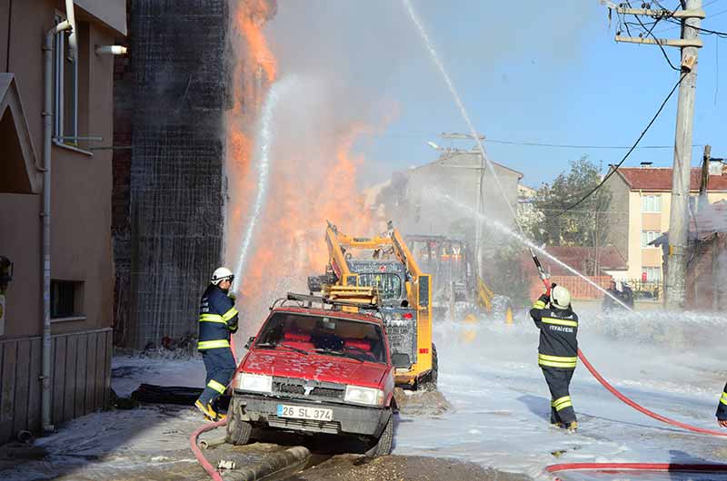
<path id="1" fill-rule="evenodd" d="M 564 212 L 602 181 L 601 169 L 587 156 L 570 162 L 552 184 L 543 184 L 535 194 L 533 211 L 523 218 L 523 228 L 540 244 L 593 247 L 597 254 L 608 236 L 607 211 L 612 194 L 602 186 L 573 210 Z M 593 272 L 598 258 L 593 259 Z"/>

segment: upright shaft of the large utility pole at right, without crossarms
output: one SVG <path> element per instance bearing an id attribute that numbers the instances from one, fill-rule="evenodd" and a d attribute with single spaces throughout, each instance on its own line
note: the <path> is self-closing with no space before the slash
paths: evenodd
<path id="1" fill-rule="evenodd" d="M 686 10 L 701 10 L 702 0 L 686 0 Z M 703 18 L 703 12 L 702 12 Z M 682 20 L 682 39 L 699 36 L 701 19 Z M 694 28 L 696 27 L 696 28 Z M 676 113 L 674 167 L 672 172 L 672 211 L 669 218 L 669 250 L 667 276 L 664 283 L 667 309 L 683 309 L 686 292 L 687 247 L 689 244 L 689 187 L 692 176 L 692 129 L 694 97 L 697 86 L 697 54 L 699 47 L 682 47 L 682 83 Z"/>

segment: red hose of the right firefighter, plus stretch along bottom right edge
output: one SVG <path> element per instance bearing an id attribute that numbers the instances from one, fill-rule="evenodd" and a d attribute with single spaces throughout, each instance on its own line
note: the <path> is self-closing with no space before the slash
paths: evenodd
<path id="1" fill-rule="evenodd" d="M 548 276 L 543 270 L 543 266 L 540 263 L 540 260 L 538 260 L 537 256 L 533 253 L 533 250 L 531 250 L 531 254 L 533 255 L 533 261 L 535 262 L 535 267 L 538 269 L 538 274 L 540 275 L 541 280 L 543 280 L 543 284 L 545 285 L 545 289 L 550 292 L 551 290 L 551 283 L 548 280 Z M 656 419 L 658 421 L 661 421 L 662 423 L 666 423 L 672 426 L 676 427 L 682 427 L 682 429 L 686 429 L 695 433 L 700 434 L 706 434 L 711 436 L 719 436 L 719 437 L 727 437 L 727 432 L 721 432 L 721 431 L 715 431 L 713 429 L 705 429 L 703 427 L 695 427 L 688 425 L 686 423 L 682 423 L 680 421 L 676 421 L 674 419 L 671 419 L 669 417 L 662 416 L 660 414 L 657 414 L 646 407 L 642 407 L 635 401 L 633 401 L 630 398 L 627 398 L 624 396 L 618 389 L 613 388 L 611 383 L 609 383 L 601 374 L 593 368 L 593 365 L 589 362 L 588 358 L 585 357 L 583 354 L 583 351 L 581 349 L 578 349 L 578 358 L 581 359 L 583 362 L 583 365 L 585 368 L 588 369 L 588 372 L 590 372 L 593 375 L 593 378 L 596 378 L 598 382 L 601 383 L 603 388 L 606 388 L 613 396 L 621 400 L 624 404 L 633 407 L 640 413 L 652 417 L 653 419 Z M 559 465 L 551 465 L 547 466 L 546 471 L 549 473 L 555 473 L 559 471 L 573 471 L 573 470 L 615 470 L 615 471 L 622 471 L 622 470 L 642 470 L 642 471 L 679 471 L 679 472 L 727 472 L 727 465 L 724 464 L 672 464 L 672 463 L 565 463 L 565 464 L 559 464 Z"/>

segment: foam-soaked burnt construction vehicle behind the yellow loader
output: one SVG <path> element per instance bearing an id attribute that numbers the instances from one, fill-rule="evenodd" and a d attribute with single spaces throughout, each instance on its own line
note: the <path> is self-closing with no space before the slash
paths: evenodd
<path id="1" fill-rule="evenodd" d="M 435 316 L 463 322 L 489 317 L 513 323 L 510 299 L 495 295 L 477 274 L 475 257 L 463 238 L 410 235 L 406 243 L 422 269 L 433 275 Z"/>

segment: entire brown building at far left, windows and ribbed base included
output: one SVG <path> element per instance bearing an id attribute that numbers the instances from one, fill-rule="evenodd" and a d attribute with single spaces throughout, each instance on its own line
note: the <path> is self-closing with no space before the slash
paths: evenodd
<path id="1" fill-rule="evenodd" d="M 44 151 L 45 32 L 61 0 L 0 5 L 0 443 L 105 407 L 111 377 L 114 278 L 111 185 L 114 56 L 124 0 L 75 0 L 75 38 L 55 35 L 52 142 Z M 93 138 L 91 140 L 90 138 Z M 97 149 L 99 148 L 100 149 Z M 96 150 L 97 149 L 97 150 Z M 52 159 L 44 185 L 45 152 Z M 42 417 L 43 192 L 50 188 L 50 418 Z M 0 265 L 4 262 L 0 259 Z M 9 277 L 9 263 L 3 274 Z M 46 385 L 47 386 L 47 385 Z"/>

